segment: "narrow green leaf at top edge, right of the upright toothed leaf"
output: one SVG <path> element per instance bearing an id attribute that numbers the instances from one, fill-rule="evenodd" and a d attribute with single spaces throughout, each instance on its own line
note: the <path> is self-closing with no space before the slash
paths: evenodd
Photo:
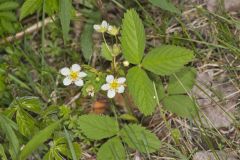
<path id="1" fill-rule="evenodd" d="M 149 0 L 153 5 L 160 7 L 165 11 L 169 11 L 172 13 L 180 14 L 180 10 L 177 9 L 169 0 Z"/>

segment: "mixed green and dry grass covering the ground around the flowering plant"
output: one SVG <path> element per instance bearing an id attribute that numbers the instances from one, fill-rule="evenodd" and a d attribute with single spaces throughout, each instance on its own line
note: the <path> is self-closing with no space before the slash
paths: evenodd
<path id="1" fill-rule="evenodd" d="M 147 51 L 162 44 L 189 48 L 196 55 L 194 61 L 188 64 L 189 66 L 197 68 L 199 72 L 214 70 L 214 73 L 217 73 L 220 71 L 213 76 L 213 82 L 219 86 L 227 83 L 235 88 L 232 94 L 239 95 L 240 21 L 237 17 L 238 14 L 232 15 L 225 11 L 211 13 L 204 7 L 196 6 L 196 4 L 188 1 L 176 4 L 176 7 L 182 10 L 181 15 L 164 11 L 147 1 L 141 2 L 138 0 L 131 2 L 112 0 L 111 3 L 103 4 L 95 4 L 94 2 L 90 4 L 73 3 L 73 6 L 80 13 L 81 11 L 93 12 L 98 10 L 99 13 L 96 13 L 96 15 L 116 21 L 118 24 L 121 23 L 126 9 L 134 8 L 141 16 L 145 26 Z M 116 14 L 111 14 L 112 10 Z M 100 56 L 100 46 L 103 40 L 99 34 L 93 33 L 94 53 L 92 59 L 88 62 L 83 57 L 79 47 L 80 37 L 75 34 L 78 32 L 76 28 L 81 28 L 85 24 L 99 23 L 99 20 L 94 19 L 94 15 L 91 17 L 86 13 L 79 20 L 80 26 L 75 26 L 79 23 L 72 21 L 70 40 L 65 45 L 60 29 L 61 25 L 57 19 L 54 23 L 43 26 L 40 31 L 0 46 L 0 115 L 4 114 L 14 123 L 17 123 L 16 115 L 13 114 L 10 107 L 11 103 L 18 97 L 34 96 L 39 97 L 41 101 L 41 112 L 36 113 L 31 110 L 26 110 L 26 112 L 33 117 L 37 128 L 36 132 L 44 129 L 57 119 L 63 121 L 61 129 L 52 134 L 49 141 L 38 147 L 32 154 L 38 159 L 41 159 L 40 157 L 52 147 L 49 142 L 61 136 L 67 136 L 67 143 L 70 146 L 68 151 L 75 157 L 74 159 L 76 159 L 73 146 L 75 142 L 81 145 L 82 159 L 96 156 L 100 146 L 105 142 L 105 140 L 92 141 L 88 139 L 78 128 L 75 118 L 94 111 L 93 104 L 95 101 L 108 101 L 106 96 L 100 93 L 95 98 L 86 98 L 79 94 L 81 89 L 63 86 L 62 77 L 59 74 L 62 67 L 71 66 L 74 63 L 93 64 L 88 69 L 90 68 L 89 70 L 93 71 L 92 73 L 98 74 L 100 79 L 111 69 L 110 63 L 106 63 Z M 48 16 L 45 15 L 45 10 L 35 15 L 39 22 L 42 18 Z M 18 23 L 22 25 L 22 28 L 26 28 L 36 22 L 36 18 L 33 18 L 28 23 Z M 7 34 L 7 36 L 10 35 Z M 106 40 L 113 42 L 114 38 L 107 36 Z M 123 58 L 117 59 L 119 64 L 122 61 Z M 101 72 L 94 68 L 101 70 Z M 124 73 L 124 69 L 121 72 Z M 220 82 L 222 78 L 224 80 Z M 93 76 L 92 79 L 96 79 L 96 77 Z M 167 77 L 161 77 L 161 80 L 164 84 L 168 82 Z M 154 87 L 154 93 L 156 99 L 158 99 L 155 84 Z M 235 112 L 230 113 L 225 108 L 225 104 L 228 102 L 223 98 L 222 93 L 215 91 L 212 86 L 205 86 L 207 90 L 200 85 L 196 85 L 196 87 L 205 94 L 207 99 L 212 101 L 212 105 L 215 105 L 233 122 L 230 126 L 218 128 L 208 123 L 206 127 L 204 121 L 208 117 L 200 118 L 203 114 L 200 104 L 196 106 L 199 109 L 197 116 L 194 119 L 185 119 L 167 112 L 159 101 L 157 101 L 158 107 L 154 114 L 147 117 L 143 116 L 134 107 L 132 99 L 127 95 L 124 97 L 129 103 L 127 105 L 121 103 L 110 107 L 108 105 L 111 101 L 106 103 L 107 109 L 104 114 L 119 119 L 123 113 L 130 114 L 129 111 L 133 111 L 134 118 L 137 118 L 141 125 L 155 133 L 162 142 L 161 148 L 157 152 L 147 154 L 141 154 L 124 145 L 128 159 L 132 159 L 134 155 L 139 153 L 140 157 L 146 160 L 161 158 L 187 160 L 192 159 L 192 156 L 198 151 L 208 150 L 213 153 L 215 159 L 220 160 L 218 151 L 225 151 L 226 149 L 240 155 L 239 100 L 236 100 Z M 209 95 L 208 90 L 212 91 L 214 95 Z M 196 101 L 196 95 L 192 92 L 186 95 L 192 101 Z M 218 97 L 218 100 L 214 97 Z M 122 99 L 119 102 L 123 102 Z M 231 101 L 232 99 L 227 100 Z M 66 104 L 69 105 L 64 106 Z M 131 120 L 126 119 L 119 121 L 121 127 L 130 122 Z M 32 137 L 25 137 L 18 129 L 11 128 L 16 133 L 21 146 L 26 145 L 31 140 Z M 13 148 L 9 144 L 11 140 L 8 137 L 9 135 L 6 136 L 6 133 L 0 131 L 0 143 L 3 144 L 1 145 L 1 154 L 2 148 L 4 148 L 5 154 L 10 158 L 14 156 L 12 156 Z M 66 157 L 64 154 L 61 156 Z"/>

